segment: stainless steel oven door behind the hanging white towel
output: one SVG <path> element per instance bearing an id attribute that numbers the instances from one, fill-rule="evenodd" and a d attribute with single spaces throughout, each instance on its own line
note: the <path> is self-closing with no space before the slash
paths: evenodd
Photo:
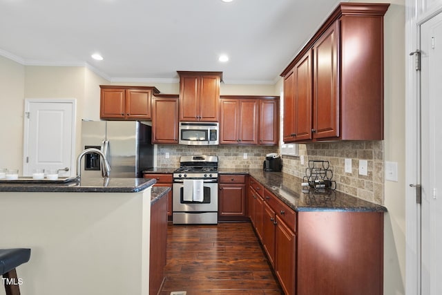
<path id="1" fill-rule="evenodd" d="M 218 212 L 218 182 L 204 180 L 204 200 L 184 201 L 184 184 L 173 183 L 173 212 Z"/>

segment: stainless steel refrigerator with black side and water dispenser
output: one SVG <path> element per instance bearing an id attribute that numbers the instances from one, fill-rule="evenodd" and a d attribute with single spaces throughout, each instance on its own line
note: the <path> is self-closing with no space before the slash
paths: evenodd
<path id="1" fill-rule="evenodd" d="M 81 121 L 81 145 L 106 151 L 112 178 L 142 178 L 142 171 L 153 167 L 151 138 L 152 127 L 143 122 Z M 102 177 L 97 153 L 84 155 L 81 178 L 87 177 Z"/>

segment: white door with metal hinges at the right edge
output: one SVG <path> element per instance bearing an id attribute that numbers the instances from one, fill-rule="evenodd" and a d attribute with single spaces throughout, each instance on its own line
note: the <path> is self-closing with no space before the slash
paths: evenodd
<path id="1" fill-rule="evenodd" d="M 442 14 L 421 25 L 421 294 L 442 294 Z"/>

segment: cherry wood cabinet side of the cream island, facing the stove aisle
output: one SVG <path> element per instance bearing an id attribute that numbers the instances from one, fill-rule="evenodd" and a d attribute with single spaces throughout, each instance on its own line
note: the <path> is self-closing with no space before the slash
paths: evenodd
<path id="1" fill-rule="evenodd" d="M 151 242 L 149 262 L 149 294 L 157 294 L 164 280 L 167 248 L 167 198 L 151 205 Z"/>

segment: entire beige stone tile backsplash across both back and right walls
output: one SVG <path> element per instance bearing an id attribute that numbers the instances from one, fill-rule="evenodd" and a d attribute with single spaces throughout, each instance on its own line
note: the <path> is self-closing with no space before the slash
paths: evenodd
<path id="1" fill-rule="evenodd" d="M 157 146 L 158 167 L 180 166 L 181 155 L 218 155 L 220 168 L 262 169 L 267 153 L 277 153 L 277 146 L 183 146 L 160 144 Z M 169 159 L 164 155 L 169 153 Z M 247 153 L 247 159 L 243 159 Z M 327 160 L 333 171 L 336 189 L 351 196 L 383 204 L 384 156 L 383 141 L 327 142 L 300 144 L 300 157 L 282 156 L 282 171 L 302 178 L 309 160 Z M 352 159 L 352 173 L 345 173 L 345 158 Z M 359 175 L 359 160 L 367 160 L 367 176 Z"/>

